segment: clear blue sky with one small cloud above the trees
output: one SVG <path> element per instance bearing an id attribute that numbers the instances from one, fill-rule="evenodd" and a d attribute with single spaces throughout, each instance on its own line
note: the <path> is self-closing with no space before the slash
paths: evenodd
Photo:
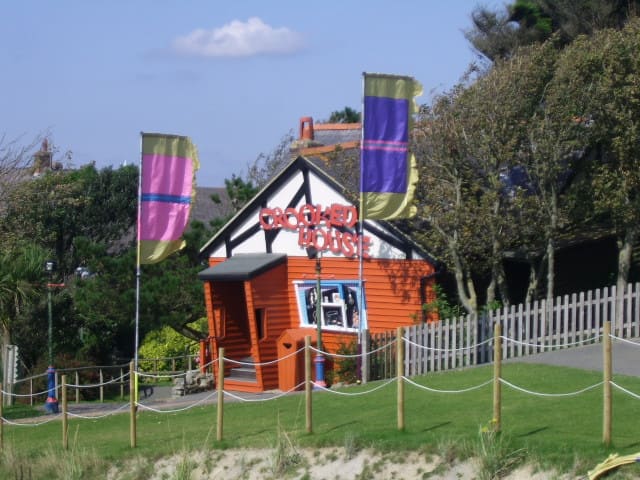
<path id="1" fill-rule="evenodd" d="M 496 5 L 497 2 L 485 2 Z M 360 110 L 362 72 L 427 103 L 475 55 L 469 0 L 20 0 L 0 14 L 0 138 L 63 161 L 137 163 L 140 132 L 188 135 L 198 184 L 242 175 L 300 117 Z M 67 161 L 64 161 L 68 163 Z"/>

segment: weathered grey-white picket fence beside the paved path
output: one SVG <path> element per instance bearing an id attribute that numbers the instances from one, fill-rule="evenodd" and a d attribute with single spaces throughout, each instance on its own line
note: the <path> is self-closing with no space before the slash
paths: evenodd
<path id="1" fill-rule="evenodd" d="M 622 298 L 623 319 L 616 324 L 616 287 L 535 301 L 488 314 L 468 315 L 408 327 L 404 332 L 405 374 L 450 370 L 492 361 L 493 328 L 500 323 L 504 359 L 598 343 L 603 325 L 611 334 L 640 336 L 640 283 L 628 284 Z"/>

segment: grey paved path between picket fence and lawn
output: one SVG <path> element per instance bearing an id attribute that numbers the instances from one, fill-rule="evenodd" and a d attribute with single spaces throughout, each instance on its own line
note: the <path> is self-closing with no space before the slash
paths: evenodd
<path id="1" fill-rule="evenodd" d="M 633 343 L 631 343 L 633 342 Z M 613 373 L 640 377 L 640 339 L 612 340 Z M 507 360 L 508 362 L 543 363 L 563 367 L 602 371 L 602 343 L 565 348 Z"/>

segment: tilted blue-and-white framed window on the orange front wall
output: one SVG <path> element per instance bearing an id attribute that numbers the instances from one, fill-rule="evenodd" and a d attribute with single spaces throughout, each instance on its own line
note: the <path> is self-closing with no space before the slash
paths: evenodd
<path id="1" fill-rule="evenodd" d="M 317 325 L 317 282 L 294 282 L 301 326 Z M 328 330 L 358 330 L 362 298 L 358 282 L 353 280 L 322 281 L 322 328 Z"/>

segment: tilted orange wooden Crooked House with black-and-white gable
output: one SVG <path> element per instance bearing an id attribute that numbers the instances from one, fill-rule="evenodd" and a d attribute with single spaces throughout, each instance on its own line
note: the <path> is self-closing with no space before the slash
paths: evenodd
<path id="1" fill-rule="evenodd" d="M 220 347 L 240 362 L 227 363 L 225 388 L 296 386 L 304 378 L 302 355 L 276 360 L 304 345 L 306 335 L 316 340 L 318 316 L 329 352 L 364 329 L 388 331 L 423 318 L 437 262 L 388 222 L 365 221 L 360 239 L 357 208 L 344 191 L 322 160 L 299 156 L 201 249 L 209 264 L 199 274 L 209 320 L 201 364 Z M 311 259 L 309 249 L 321 255 Z"/>

